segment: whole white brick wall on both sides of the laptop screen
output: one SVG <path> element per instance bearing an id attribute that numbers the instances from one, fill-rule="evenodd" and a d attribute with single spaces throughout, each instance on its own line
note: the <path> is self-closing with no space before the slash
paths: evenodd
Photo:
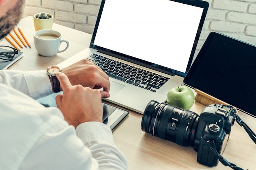
<path id="1" fill-rule="evenodd" d="M 256 0 L 206 1 L 209 10 L 195 55 L 211 31 L 256 45 Z M 92 34 L 100 3 L 101 0 L 26 0 L 24 17 L 45 11 L 54 15 L 56 24 Z"/>

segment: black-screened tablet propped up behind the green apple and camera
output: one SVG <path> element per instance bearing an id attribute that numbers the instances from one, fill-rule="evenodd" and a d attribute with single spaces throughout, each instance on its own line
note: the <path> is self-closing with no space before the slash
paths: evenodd
<path id="1" fill-rule="evenodd" d="M 211 32 L 184 84 L 256 117 L 256 46 Z"/>

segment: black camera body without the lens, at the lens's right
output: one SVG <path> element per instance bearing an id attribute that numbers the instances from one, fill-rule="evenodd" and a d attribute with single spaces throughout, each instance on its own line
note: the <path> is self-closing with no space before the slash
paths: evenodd
<path id="1" fill-rule="evenodd" d="M 217 166 L 219 159 L 209 147 L 209 141 L 214 141 L 217 151 L 222 155 L 235 115 L 236 110 L 233 107 L 222 104 L 211 104 L 202 110 L 193 145 L 198 152 L 198 163 L 209 167 Z"/>

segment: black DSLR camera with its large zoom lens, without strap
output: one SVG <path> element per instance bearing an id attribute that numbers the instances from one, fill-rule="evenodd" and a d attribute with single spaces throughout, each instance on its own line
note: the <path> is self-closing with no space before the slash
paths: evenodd
<path id="1" fill-rule="evenodd" d="M 166 103 L 150 101 L 141 120 L 141 130 L 181 146 L 193 146 L 197 161 L 205 166 L 217 166 L 219 158 L 209 146 L 213 141 L 222 155 L 236 110 L 232 106 L 211 104 L 202 113 L 177 108 Z"/>

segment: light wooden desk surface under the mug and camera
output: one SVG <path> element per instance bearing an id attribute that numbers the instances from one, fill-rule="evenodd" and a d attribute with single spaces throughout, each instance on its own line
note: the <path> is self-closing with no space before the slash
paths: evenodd
<path id="1" fill-rule="evenodd" d="M 23 71 L 46 69 L 48 66 L 58 64 L 80 52 L 90 43 L 90 34 L 54 24 L 53 29 L 60 31 L 62 38 L 69 40 L 70 47 L 67 51 L 58 53 L 54 57 L 42 57 L 38 55 L 34 47 L 33 18 L 22 19 L 19 26 L 27 36 L 32 48 L 23 48 L 24 57 L 9 69 Z M 7 45 L 8 42 L 3 40 L 0 44 Z M 200 114 L 203 108 L 202 104 L 195 102 L 190 110 Z M 231 170 L 221 163 L 213 168 L 203 166 L 196 161 L 197 152 L 193 150 L 193 147 L 179 146 L 141 131 L 142 115 L 131 110 L 128 111 L 130 112 L 128 117 L 113 131 L 113 136 L 119 149 L 126 155 L 130 170 Z M 241 112 L 238 115 L 256 132 L 255 118 Z M 231 128 L 231 135 L 222 156 L 244 170 L 256 170 L 256 145 L 243 127 L 236 122 Z"/>

